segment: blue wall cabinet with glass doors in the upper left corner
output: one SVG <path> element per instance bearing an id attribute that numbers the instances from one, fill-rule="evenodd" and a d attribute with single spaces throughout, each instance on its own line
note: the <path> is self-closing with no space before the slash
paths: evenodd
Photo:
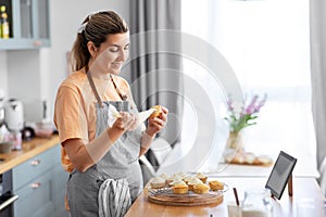
<path id="1" fill-rule="evenodd" d="M 0 50 L 38 49 L 50 46 L 49 0 L 4 0 L 10 38 L 0 38 Z"/>

